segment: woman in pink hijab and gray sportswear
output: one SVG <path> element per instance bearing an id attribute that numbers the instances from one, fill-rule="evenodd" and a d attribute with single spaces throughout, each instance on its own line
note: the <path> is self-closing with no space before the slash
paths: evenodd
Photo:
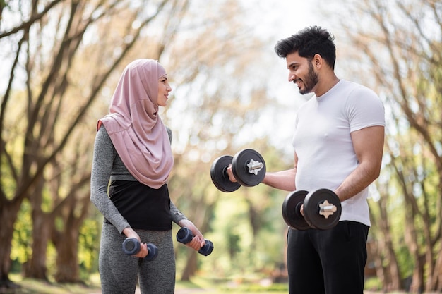
<path id="1" fill-rule="evenodd" d="M 172 134 L 158 107 L 167 106 L 170 91 L 160 63 L 133 61 L 121 75 L 110 114 L 97 123 L 90 200 L 104 216 L 99 257 L 104 294 L 134 293 L 137 278 L 141 293 L 174 293 L 172 221 L 191 229 L 195 237 L 186 245 L 199 250 L 205 244 L 198 228 L 169 198 Z M 124 254 L 126 238 L 141 242 L 136 255 Z M 143 258 L 146 243 L 158 247 L 153 261 Z"/>

